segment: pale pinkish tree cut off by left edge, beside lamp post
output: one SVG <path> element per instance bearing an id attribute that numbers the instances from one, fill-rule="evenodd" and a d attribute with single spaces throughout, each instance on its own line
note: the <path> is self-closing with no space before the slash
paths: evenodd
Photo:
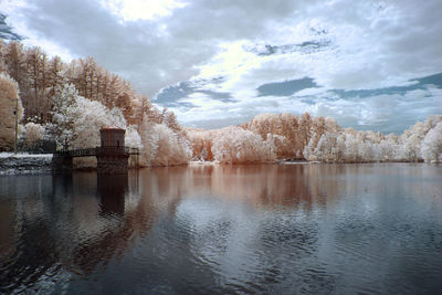
<path id="1" fill-rule="evenodd" d="M 18 122 L 23 117 L 19 86 L 9 75 L 0 73 L 0 150 L 11 150 L 15 140 L 15 112 Z"/>

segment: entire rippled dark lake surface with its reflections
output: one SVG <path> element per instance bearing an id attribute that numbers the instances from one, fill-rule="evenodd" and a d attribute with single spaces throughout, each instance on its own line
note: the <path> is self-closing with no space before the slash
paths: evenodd
<path id="1" fill-rule="evenodd" d="M 0 293 L 435 294 L 442 167 L 0 177 Z"/>

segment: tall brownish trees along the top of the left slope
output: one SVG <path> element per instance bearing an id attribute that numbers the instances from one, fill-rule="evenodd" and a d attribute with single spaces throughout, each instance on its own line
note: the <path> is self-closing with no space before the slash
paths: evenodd
<path id="1" fill-rule="evenodd" d="M 38 46 L 24 48 L 15 41 L 4 43 L 0 40 L 0 72 L 18 83 L 24 122 L 51 122 L 54 97 L 60 95 L 57 89 L 65 84 L 74 85 L 78 95 L 107 108 L 118 107 L 129 124 L 137 124 L 146 117 L 158 124 L 166 116 L 168 120 L 173 119 L 170 112 L 157 109 L 127 81 L 104 70 L 91 56 L 64 63 L 59 56 L 49 57 Z"/>

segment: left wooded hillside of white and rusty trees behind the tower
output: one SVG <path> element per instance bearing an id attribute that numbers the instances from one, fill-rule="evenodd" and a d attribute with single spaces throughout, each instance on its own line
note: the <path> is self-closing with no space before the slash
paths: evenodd
<path id="1" fill-rule="evenodd" d="M 101 127 L 117 125 L 127 130 L 127 145 L 141 149 L 144 166 L 180 165 L 191 157 L 176 115 L 159 110 L 92 57 L 64 63 L 40 48 L 0 40 L 0 151 L 14 148 L 17 108 L 22 150 L 42 141 L 59 149 L 94 147 Z"/>

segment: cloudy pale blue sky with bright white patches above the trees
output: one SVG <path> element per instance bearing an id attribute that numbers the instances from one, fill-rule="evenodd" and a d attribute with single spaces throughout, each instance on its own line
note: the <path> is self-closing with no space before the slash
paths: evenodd
<path id="1" fill-rule="evenodd" d="M 66 62 L 93 56 L 185 126 L 308 112 L 401 133 L 442 114 L 440 11 L 440 0 L 0 0 L 0 29 Z"/>

